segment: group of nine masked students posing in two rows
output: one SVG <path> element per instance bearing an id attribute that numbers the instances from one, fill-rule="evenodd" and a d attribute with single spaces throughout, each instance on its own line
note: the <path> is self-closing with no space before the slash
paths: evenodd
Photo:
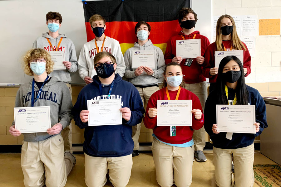
<path id="1" fill-rule="evenodd" d="M 231 16 L 219 17 L 216 41 L 210 44 L 205 36 L 195 31 L 196 13 L 191 8 L 182 8 L 179 12 L 182 31 L 170 38 L 165 55 L 148 39 L 150 25 L 140 21 L 135 26 L 138 41 L 123 57 L 119 42 L 104 34 L 106 20 L 93 15 L 89 22 L 95 38 L 84 44 L 78 61 L 72 41 L 58 33 L 61 15 L 48 12 L 46 19 L 49 31 L 37 38 L 33 49 L 24 56 L 24 72 L 34 78 L 19 88 L 15 102 L 15 107 L 50 106 L 51 111 L 52 127 L 47 133 L 24 134 L 21 166 L 25 186 L 66 184 L 67 175 L 76 163 L 69 125 L 72 118 L 78 127 L 85 128 L 85 183 L 89 187 L 105 185 L 108 170 L 113 186 L 128 184 L 132 156 L 139 154 L 142 120 L 146 128 L 153 129 L 153 160 L 156 180 L 161 187 L 191 185 L 194 157 L 197 161 L 207 160 L 203 154 L 205 130 L 213 141 L 216 184 L 219 187 L 232 185 L 233 161 L 235 186 L 253 186 L 253 142 L 267 127 L 265 103 L 256 89 L 245 84 L 244 77 L 251 72 L 251 57 L 236 33 Z M 200 39 L 201 56 L 195 59 L 176 56 L 175 41 L 182 39 Z M 214 67 L 214 51 L 241 49 L 244 62 L 227 56 L 219 68 Z M 133 50 L 154 50 L 155 69 L 132 68 Z M 47 51 L 64 51 L 66 70 L 53 71 L 54 63 Z M 87 85 L 73 106 L 70 72 L 77 70 Z M 129 82 L 123 80 L 123 76 Z M 159 90 L 158 80 L 162 76 L 163 88 Z M 211 83 L 209 96 L 205 77 Z M 112 98 L 121 98 L 122 124 L 89 127 L 87 100 Z M 170 135 L 170 127 L 157 126 L 156 102 L 170 99 L 192 100 L 192 126 L 177 126 L 176 136 Z M 256 134 L 233 133 L 231 138 L 228 134 L 227 139 L 227 133 L 217 131 L 216 104 L 256 105 L 256 123 L 253 124 Z M 14 122 L 9 132 L 13 136 L 21 134 Z"/>

